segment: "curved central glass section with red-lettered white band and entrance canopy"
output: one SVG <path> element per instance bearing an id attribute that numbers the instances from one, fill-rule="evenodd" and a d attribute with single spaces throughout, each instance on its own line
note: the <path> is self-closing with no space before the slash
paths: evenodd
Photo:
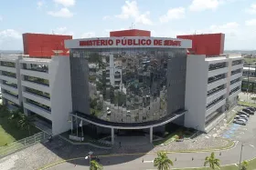
<path id="1" fill-rule="evenodd" d="M 136 129 L 149 131 L 152 142 L 153 128 L 163 131 L 163 125 L 186 114 L 190 40 L 127 36 L 73 39 L 65 45 L 72 119 L 96 125 L 95 133 L 111 132 L 112 143 L 115 133 Z"/>

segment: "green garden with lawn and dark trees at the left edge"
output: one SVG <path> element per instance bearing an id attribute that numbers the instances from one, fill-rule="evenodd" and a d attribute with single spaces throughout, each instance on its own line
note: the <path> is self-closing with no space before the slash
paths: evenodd
<path id="1" fill-rule="evenodd" d="M 31 117 L 22 114 L 20 110 L 10 112 L 4 105 L 0 105 L 0 146 L 40 132 L 31 122 Z"/>

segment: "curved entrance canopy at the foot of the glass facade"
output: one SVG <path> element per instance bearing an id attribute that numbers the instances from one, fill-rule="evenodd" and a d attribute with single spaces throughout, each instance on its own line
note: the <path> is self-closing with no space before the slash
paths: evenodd
<path id="1" fill-rule="evenodd" d="M 107 127 L 107 128 L 115 128 L 115 129 L 145 129 L 150 127 L 156 127 L 160 125 L 168 124 L 169 122 L 172 122 L 176 120 L 176 118 L 185 115 L 187 113 L 187 110 L 179 110 L 176 113 L 166 115 L 165 117 L 155 120 L 155 121 L 149 121 L 144 123 L 115 123 L 115 122 L 108 122 L 105 120 L 101 120 L 97 117 L 94 117 L 92 115 L 83 114 L 80 112 L 73 112 L 71 115 L 74 117 L 78 117 L 88 123 L 91 123 L 93 125 L 99 125 L 101 127 Z"/>

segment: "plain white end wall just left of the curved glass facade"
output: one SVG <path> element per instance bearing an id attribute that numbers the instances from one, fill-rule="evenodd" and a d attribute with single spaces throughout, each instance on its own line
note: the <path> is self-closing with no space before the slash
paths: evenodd
<path id="1" fill-rule="evenodd" d="M 49 87 L 52 115 L 52 134 L 70 129 L 72 111 L 69 57 L 54 56 L 49 64 Z"/>

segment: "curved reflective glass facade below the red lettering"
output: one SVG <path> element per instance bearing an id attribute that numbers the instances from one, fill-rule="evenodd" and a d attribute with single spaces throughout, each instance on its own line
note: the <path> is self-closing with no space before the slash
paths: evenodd
<path id="1" fill-rule="evenodd" d="M 173 48 L 70 50 L 73 111 L 141 123 L 184 109 L 187 51 Z"/>

